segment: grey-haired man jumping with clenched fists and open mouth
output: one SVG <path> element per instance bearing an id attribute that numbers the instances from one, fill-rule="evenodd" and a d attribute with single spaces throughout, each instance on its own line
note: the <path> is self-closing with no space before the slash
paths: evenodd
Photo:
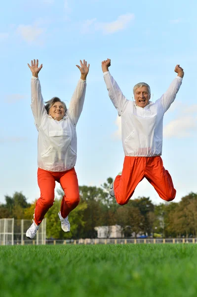
<path id="1" fill-rule="evenodd" d="M 124 164 L 110 186 L 110 195 L 118 204 L 126 204 L 138 183 L 145 177 L 158 192 L 160 198 L 171 201 L 175 198 L 172 178 L 163 167 L 162 152 L 163 116 L 174 101 L 184 76 L 183 68 L 176 65 L 177 77 L 166 93 L 155 103 L 150 101 L 151 90 L 146 83 L 133 88 L 135 101 L 127 100 L 111 76 L 108 68 L 111 60 L 102 61 L 104 80 L 109 97 L 121 116 Z"/>

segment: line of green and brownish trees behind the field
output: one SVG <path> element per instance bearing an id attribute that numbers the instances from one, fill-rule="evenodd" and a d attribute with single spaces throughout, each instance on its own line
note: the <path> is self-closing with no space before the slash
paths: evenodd
<path id="1" fill-rule="evenodd" d="M 57 191 L 47 218 L 47 238 L 96 238 L 98 226 L 121 227 L 125 238 L 144 234 L 153 237 L 197 237 L 197 194 L 190 193 L 180 202 L 163 202 L 155 205 L 150 197 L 130 199 L 126 205 L 118 205 L 109 195 L 112 178 L 100 187 L 79 186 L 80 203 L 69 215 L 71 232 L 64 233 L 57 213 L 60 209 L 62 190 Z M 0 204 L 0 218 L 32 219 L 36 200 L 28 203 L 21 192 L 5 196 Z M 110 228 L 109 234 L 110 235 Z"/>

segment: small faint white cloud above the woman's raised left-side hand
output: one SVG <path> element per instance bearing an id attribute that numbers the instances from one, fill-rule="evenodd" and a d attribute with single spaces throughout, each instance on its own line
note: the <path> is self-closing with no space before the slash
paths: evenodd
<path id="1" fill-rule="evenodd" d="M 16 32 L 22 37 L 24 41 L 29 44 L 38 43 L 42 44 L 42 36 L 46 30 L 44 28 L 40 28 L 36 24 L 34 25 L 19 25 L 16 29 Z"/>

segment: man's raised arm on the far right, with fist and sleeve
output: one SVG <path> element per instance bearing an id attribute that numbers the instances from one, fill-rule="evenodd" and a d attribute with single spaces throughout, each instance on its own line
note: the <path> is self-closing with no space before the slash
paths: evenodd
<path id="1" fill-rule="evenodd" d="M 168 108 L 176 98 L 176 94 L 179 91 L 179 88 L 182 84 L 182 79 L 184 77 L 184 71 L 183 68 L 180 67 L 180 65 L 176 65 L 174 71 L 177 73 L 177 77 L 172 81 L 168 90 L 159 99 L 161 104 L 163 105 L 164 112 L 168 110 Z"/>

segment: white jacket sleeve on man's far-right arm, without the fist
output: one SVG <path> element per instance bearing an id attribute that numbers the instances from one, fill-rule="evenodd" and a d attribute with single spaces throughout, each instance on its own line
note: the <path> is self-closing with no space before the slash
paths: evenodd
<path id="1" fill-rule="evenodd" d="M 176 94 L 179 91 L 179 88 L 182 84 L 182 78 L 177 76 L 170 84 L 168 90 L 161 96 L 159 101 L 163 105 L 164 112 L 168 110 L 174 99 L 176 98 Z"/>

